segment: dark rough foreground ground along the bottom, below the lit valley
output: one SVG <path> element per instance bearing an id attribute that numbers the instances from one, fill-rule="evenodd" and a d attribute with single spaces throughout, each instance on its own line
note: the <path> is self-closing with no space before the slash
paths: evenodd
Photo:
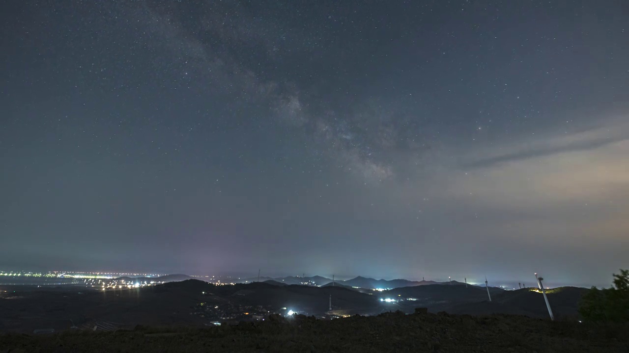
<path id="1" fill-rule="evenodd" d="M 385 313 L 316 320 L 303 315 L 208 328 L 0 335 L 15 352 L 629 352 L 629 326 L 492 315 Z"/>

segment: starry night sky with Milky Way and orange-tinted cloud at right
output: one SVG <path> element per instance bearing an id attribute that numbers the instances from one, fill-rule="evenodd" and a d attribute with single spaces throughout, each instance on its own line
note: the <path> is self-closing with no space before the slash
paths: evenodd
<path id="1" fill-rule="evenodd" d="M 1 8 L 1 269 L 629 267 L 624 0 Z"/>

